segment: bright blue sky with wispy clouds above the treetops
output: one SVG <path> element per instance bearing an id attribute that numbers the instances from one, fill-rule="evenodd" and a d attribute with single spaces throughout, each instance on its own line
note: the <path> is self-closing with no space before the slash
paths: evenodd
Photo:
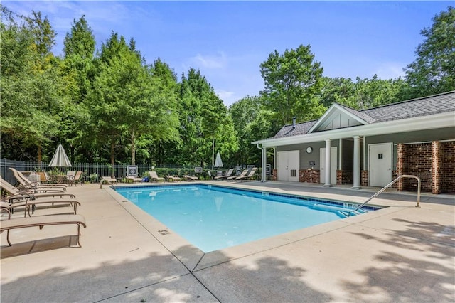
<path id="1" fill-rule="evenodd" d="M 112 31 L 134 38 L 153 63 L 178 75 L 199 69 L 225 105 L 264 87 L 259 65 L 272 51 L 311 45 L 328 77 L 403 76 L 420 31 L 451 1 L 2 1 L 16 13 L 47 16 L 56 55 L 85 15 L 97 48 Z"/>

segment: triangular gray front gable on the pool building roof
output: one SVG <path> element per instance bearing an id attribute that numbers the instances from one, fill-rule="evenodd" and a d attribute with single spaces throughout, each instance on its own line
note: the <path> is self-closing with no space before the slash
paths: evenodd
<path id="1" fill-rule="evenodd" d="M 352 108 L 333 103 L 321 118 L 309 129 L 311 132 L 323 132 L 331 129 L 354 127 L 370 124 L 374 121 L 368 115 Z"/>

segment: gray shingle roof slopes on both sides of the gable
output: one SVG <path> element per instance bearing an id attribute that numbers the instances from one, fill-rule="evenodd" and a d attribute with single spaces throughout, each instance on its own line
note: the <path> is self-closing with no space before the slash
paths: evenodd
<path id="1" fill-rule="evenodd" d="M 350 114 L 355 115 L 370 124 L 408 119 L 412 117 L 424 117 L 428 115 L 440 114 L 442 112 L 454 112 L 455 117 L 455 91 L 403 102 L 391 103 L 389 105 L 373 107 L 368 110 L 359 111 L 345 105 L 340 106 L 350 112 Z M 307 134 L 309 129 L 311 129 L 317 121 L 318 120 L 297 123 L 295 127 L 293 127 L 292 124 L 284 125 L 284 127 L 282 127 L 282 129 L 280 129 L 273 138 L 276 139 L 296 136 L 299 134 Z"/>

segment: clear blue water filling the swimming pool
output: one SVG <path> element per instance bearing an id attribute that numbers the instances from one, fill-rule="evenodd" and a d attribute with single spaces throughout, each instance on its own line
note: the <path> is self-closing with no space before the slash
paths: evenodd
<path id="1" fill-rule="evenodd" d="M 346 217 L 342 202 L 205 184 L 116 190 L 203 252 Z"/>

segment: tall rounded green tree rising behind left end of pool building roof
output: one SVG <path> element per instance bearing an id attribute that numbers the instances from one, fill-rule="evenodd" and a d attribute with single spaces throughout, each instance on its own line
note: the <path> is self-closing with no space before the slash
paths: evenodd
<path id="1" fill-rule="evenodd" d="M 283 55 L 274 50 L 260 68 L 265 84 L 264 104 L 277 113 L 282 124 L 291 122 L 292 117 L 305 121 L 322 115 L 324 108 L 317 95 L 323 68 L 314 61 L 310 46 L 285 50 Z"/>

